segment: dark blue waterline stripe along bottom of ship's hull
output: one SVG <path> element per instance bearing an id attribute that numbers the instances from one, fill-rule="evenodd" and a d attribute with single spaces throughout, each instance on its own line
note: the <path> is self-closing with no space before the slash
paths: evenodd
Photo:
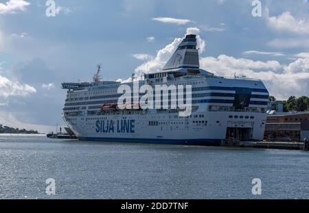
<path id="1" fill-rule="evenodd" d="M 102 142 L 127 142 L 127 143 L 147 143 L 147 144 L 167 144 L 167 145 L 203 145 L 218 146 L 220 139 L 192 139 L 192 140 L 171 140 L 171 139 L 144 139 L 144 138 L 93 138 L 78 137 L 79 140 L 102 141 Z"/>

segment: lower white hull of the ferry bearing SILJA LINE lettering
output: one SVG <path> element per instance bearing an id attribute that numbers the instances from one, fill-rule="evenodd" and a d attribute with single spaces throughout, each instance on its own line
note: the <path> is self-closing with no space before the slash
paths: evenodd
<path id="1" fill-rule="evenodd" d="M 236 127 L 251 129 L 242 132 L 248 134 L 242 136 L 244 140 L 262 140 L 264 137 L 266 114 L 249 112 L 196 112 L 195 114 L 204 115 L 204 118 L 173 118 L 177 116 L 176 114 L 108 115 L 90 116 L 89 121 L 75 121 L 73 124 L 67 122 L 67 125 L 80 140 L 107 142 L 220 145 L 222 140 L 228 139 L 229 128 L 233 131 Z M 238 118 L 234 118 L 235 116 Z M 254 119 L 250 119 L 252 116 Z M 101 124 L 101 121 L 104 123 Z M 129 128 L 124 130 L 122 121 L 127 123 L 134 121 L 130 124 L 134 126 L 128 125 Z M 149 122 L 154 122 L 155 125 L 149 125 Z"/>

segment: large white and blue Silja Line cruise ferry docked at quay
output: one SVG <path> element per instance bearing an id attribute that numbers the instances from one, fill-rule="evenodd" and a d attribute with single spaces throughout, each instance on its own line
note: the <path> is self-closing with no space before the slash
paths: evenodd
<path id="1" fill-rule="evenodd" d="M 161 72 L 133 81 L 153 88 L 190 85 L 192 112 L 187 116 L 180 116 L 179 108 L 142 109 L 133 102 L 126 104 L 134 108 L 120 108 L 118 100 L 124 94 L 118 88 L 126 85 L 133 91 L 134 83 L 103 81 L 98 66 L 93 82 L 62 84 L 67 90 L 63 120 L 80 140 L 180 145 L 262 140 L 269 97 L 263 82 L 203 70 L 196 46 L 196 35 L 185 36 Z"/>

